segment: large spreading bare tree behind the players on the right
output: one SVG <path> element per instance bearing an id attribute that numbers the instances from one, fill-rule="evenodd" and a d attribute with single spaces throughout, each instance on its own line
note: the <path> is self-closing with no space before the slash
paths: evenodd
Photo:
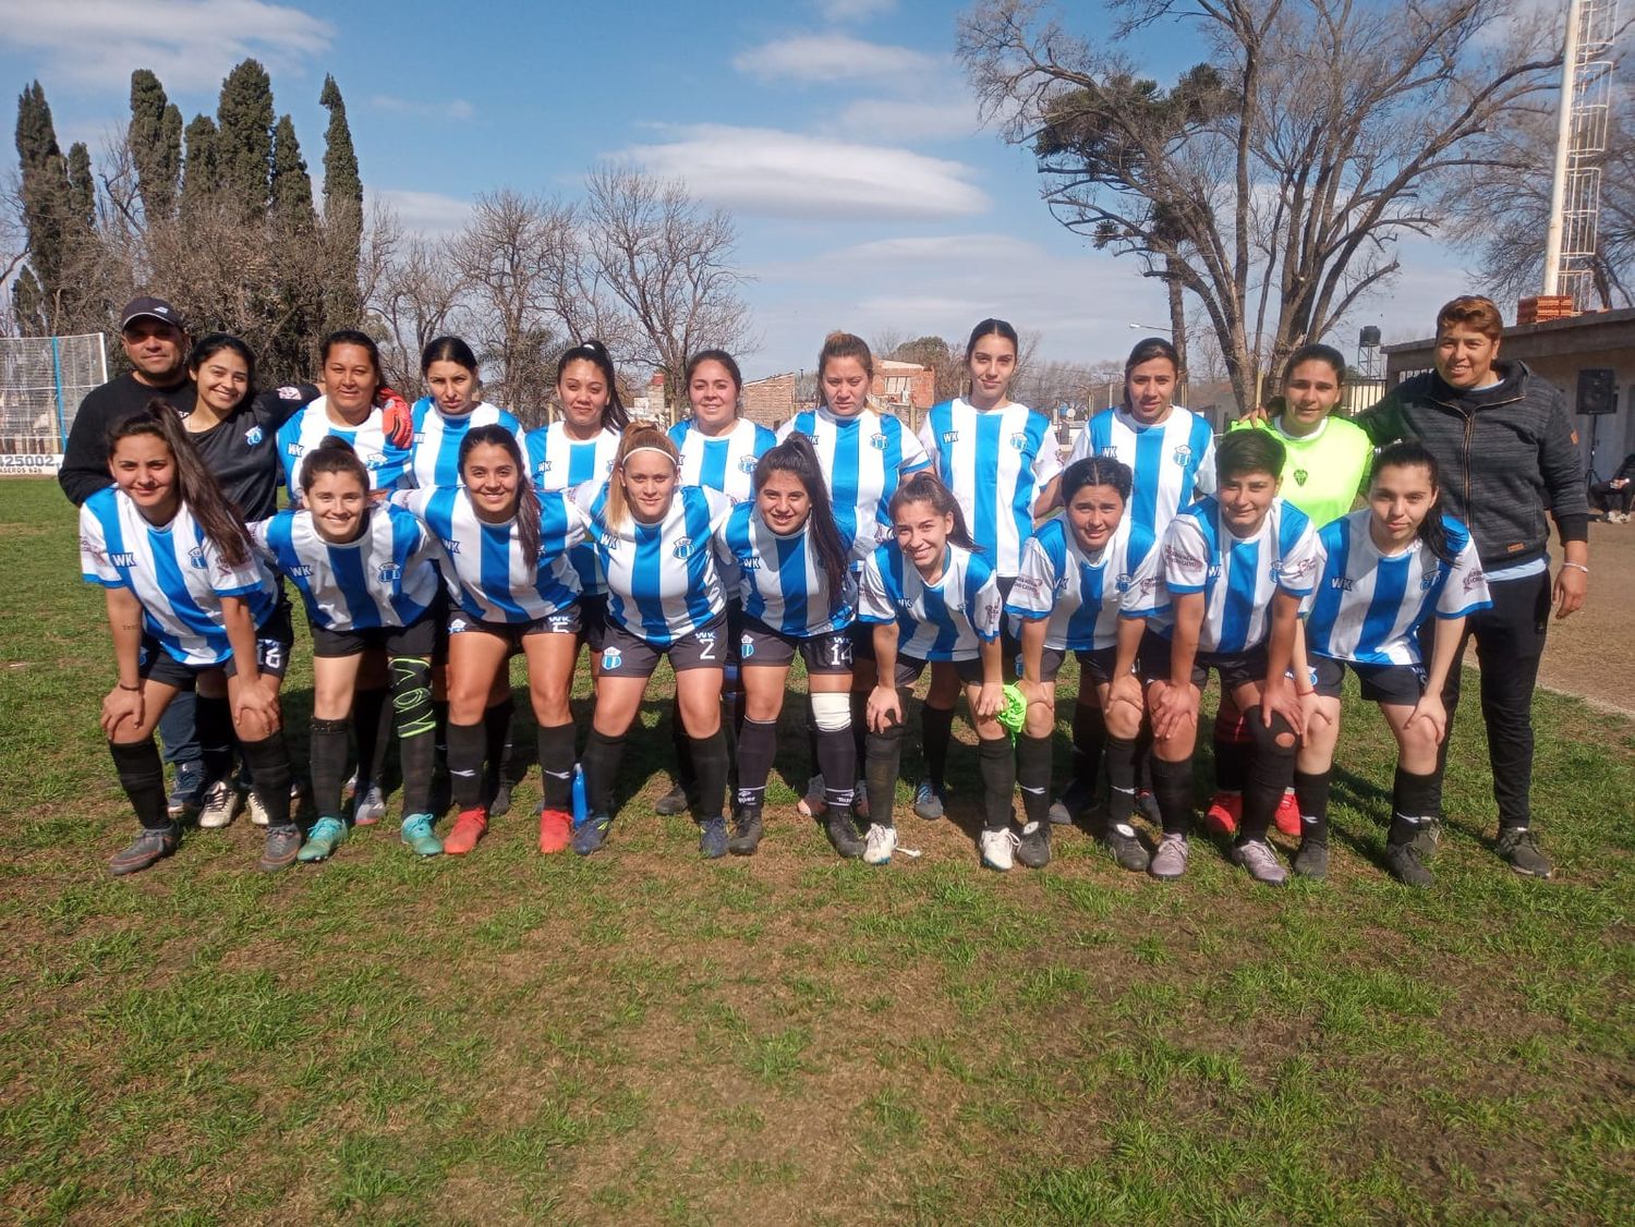
<path id="1" fill-rule="evenodd" d="M 1426 196 L 1507 108 L 1552 88 L 1548 39 L 1498 39 L 1509 0 L 1112 0 L 1110 42 L 1030 0 L 984 0 L 958 52 L 989 118 L 1033 149 L 1069 229 L 1205 309 L 1239 404 L 1431 234 Z M 1208 62 L 1171 90 L 1120 39 L 1189 21 Z M 1176 296 L 1171 297 L 1172 317 Z"/>

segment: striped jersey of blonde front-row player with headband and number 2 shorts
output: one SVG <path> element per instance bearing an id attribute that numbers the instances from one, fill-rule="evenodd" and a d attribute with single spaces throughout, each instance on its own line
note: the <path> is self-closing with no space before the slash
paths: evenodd
<path id="1" fill-rule="evenodd" d="M 633 516 L 607 523 L 607 503 L 579 492 L 592 511 L 597 565 L 608 585 L 608 619 L 656 647 L 669 647 L 726 609 L 714 534 L 732 510 L 719 490 L 677 489 L 657 524 Z"/>

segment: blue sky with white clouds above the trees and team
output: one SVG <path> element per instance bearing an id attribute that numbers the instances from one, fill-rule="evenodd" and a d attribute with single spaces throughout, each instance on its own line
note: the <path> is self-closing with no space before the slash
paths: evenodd
<path id="1" fill-rule="evenodd" d="M 1022 150 L 978 121 L 953 60 L 960 5 L 518 5 L 468 0 L 0 0 L 0 70 L 39 78 L 57 134 L 93 152 L 150 67 L 185 118 L 214 113 L 242 57 L 270 70 L 314 172 L 325 72 L 347 98 L 368 188 L 417 230 L 458 229 L 495 188 L 576 198 L 598 158 L 636 158 L 729 209 L 760 348 L 750 377 L 809 366 L 835 327 L 963 338 L 984 315 L 1048 358 L 1122 356 L 1166 319 L 1128 260 L 1092 252 L 1038 201 Z M 1073 21 L 1094 33 L 1089 5 Z M 1179 31 L 1133 47 L 1164 78 Z M 1434 247 L 1360 323 L 1419 335 L 1460 283 Z"/>

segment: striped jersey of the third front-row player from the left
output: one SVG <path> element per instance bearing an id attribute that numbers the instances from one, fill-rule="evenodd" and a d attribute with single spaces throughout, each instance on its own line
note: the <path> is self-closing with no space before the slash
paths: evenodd
<path id="1" fill-rule="evenodd" d="M 579 600 L 567 551 L 585 539 L 584 513 L 559 490 L 540 495 L 540 555 L 526 559 L 515 518 L 490 524 L 464 487 L 401 490 L 407 506 L 443 546 L 440 565 L 459 608 L 482 622 L 535 622 Z"/>

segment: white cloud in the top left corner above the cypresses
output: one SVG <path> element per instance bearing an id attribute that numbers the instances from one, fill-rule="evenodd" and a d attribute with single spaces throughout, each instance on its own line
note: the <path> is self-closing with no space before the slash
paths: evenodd
<path id="1" fill-rule="evenodd" d="M 119 91 L 134 69 L 170 91 L 216 87 L 247 56 L 293 69 L 335 38 L 329 21 L 265 0 L 0 0 L 0 29 L 43 57 L 43 75 Z"/>

